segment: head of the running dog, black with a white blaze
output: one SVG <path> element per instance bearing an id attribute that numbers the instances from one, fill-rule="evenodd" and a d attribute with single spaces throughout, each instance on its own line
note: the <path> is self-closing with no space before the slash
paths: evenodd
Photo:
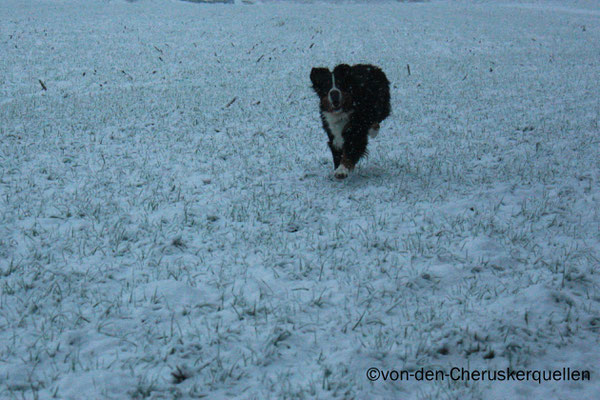
<path id="1" fill-rule="evenodd" d="M 340 64 L 333 72 L 328 68 L 310 71 L 313 89 L 321 99 L 321 111 L 340 113 L 352 108 L 352 79 L 350 66 Z"/>

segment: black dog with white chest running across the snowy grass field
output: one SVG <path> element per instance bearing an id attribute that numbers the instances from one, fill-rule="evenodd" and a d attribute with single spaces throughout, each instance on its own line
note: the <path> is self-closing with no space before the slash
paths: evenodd
<path id="1" fill-rule="evenodd" d="M 313 68 L 310 80 L 321 99 L 334 175 L 344 179 L 367 153 L 368 136 L 377 136 L 390 114 L 390 83 L 381 69 L 366 64 L 340 64 L 333 72 Z"/>

